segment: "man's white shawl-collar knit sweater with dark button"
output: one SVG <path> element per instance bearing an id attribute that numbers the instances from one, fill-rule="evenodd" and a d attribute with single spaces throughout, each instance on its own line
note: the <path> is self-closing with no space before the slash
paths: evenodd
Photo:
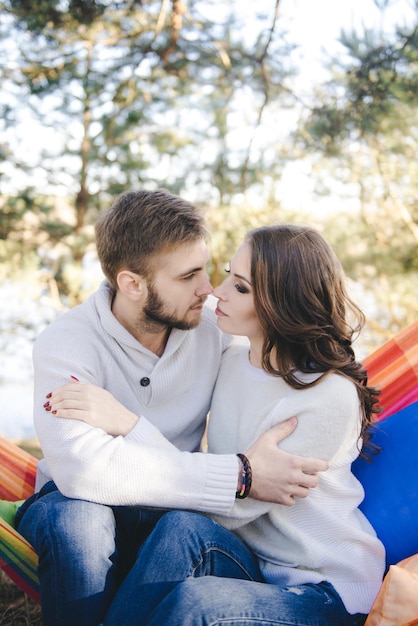
<path id="1" fill-rule="evenodd" d="M 187 451 L 199 449 L 228 339 L 205 306 L 199 326 L 173 330 L 159 358 L 119 324 L 110 310 L 111 295 L 103 283 L 35 343 L 34 419 L 45 457 L 36 488 L 52 477 L 68 497 L 227 513 L 235 499 L 236 456 Z M 142 415 L 131 433 L 112 437 L 46 412 L 46 394 L 68 383 L 70 375 L 106 388 Z M 141 386 L 143 377 L 150 379 L 148 386 Z"/>

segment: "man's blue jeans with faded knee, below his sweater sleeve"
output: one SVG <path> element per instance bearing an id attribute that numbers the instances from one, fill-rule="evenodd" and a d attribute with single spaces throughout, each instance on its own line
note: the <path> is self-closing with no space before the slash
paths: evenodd
<path id="1" fill-rule="evenodd" d="M 44 626 L 97 626 L 162 511 L 64 497 L 53 482 L 16 515 L 39 557 Z"/>

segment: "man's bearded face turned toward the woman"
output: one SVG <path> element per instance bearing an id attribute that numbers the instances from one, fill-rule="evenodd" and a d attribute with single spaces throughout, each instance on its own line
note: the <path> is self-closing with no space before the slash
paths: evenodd
<path id="1" fill-rule="evenodd" d="M 148 298 L 140 321 L 156 327 L 195 328 L 203 303 L 213 291 L 206 273 L 208 261 L 204 240 L 159 255 L 157 269 L 147 285 Z"/>

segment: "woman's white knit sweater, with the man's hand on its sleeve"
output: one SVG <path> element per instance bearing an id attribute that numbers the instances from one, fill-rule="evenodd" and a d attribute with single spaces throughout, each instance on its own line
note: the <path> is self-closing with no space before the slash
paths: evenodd
<path id="1" fill-rule="evenodd" d="M 261 432 L 293 415 L 298 427 L 280 447 L 329 461 L 319 486 L 293 507 L 237 501 L 228 519 L 217 521 L 255 551 L 269 583 L 327 580 L 350 613 L 368 613 L 382 582 L 384 549 L 357 508 L 364 491 L 351 473 L 360 432 L 354 384 L 330 374 L 317 386 L 295 390 L 252 367 L 248 348 L 225 352 L 211 405 L 210 452 L 242 452 Z"/>

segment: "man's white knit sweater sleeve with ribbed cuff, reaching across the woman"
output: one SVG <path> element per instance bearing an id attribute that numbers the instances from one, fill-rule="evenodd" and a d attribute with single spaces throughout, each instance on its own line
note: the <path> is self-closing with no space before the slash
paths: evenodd
<path id="1" fill-rule="evenodd" d="M 43 409 L 46 394 L 67 383 L 70 375 L 98 384 L 93 371 L 100 371 L 102 363 L 94 362 L 90 352 L 82 342 L 66 350 L 53 334 L 35 343 L 34 421 L 44 455 L 40 472 L 71 498 L 227 513 L 235 499 L 234 454 L 182 452 L 145 418 L 129 436 L 112 437 Z"/>

